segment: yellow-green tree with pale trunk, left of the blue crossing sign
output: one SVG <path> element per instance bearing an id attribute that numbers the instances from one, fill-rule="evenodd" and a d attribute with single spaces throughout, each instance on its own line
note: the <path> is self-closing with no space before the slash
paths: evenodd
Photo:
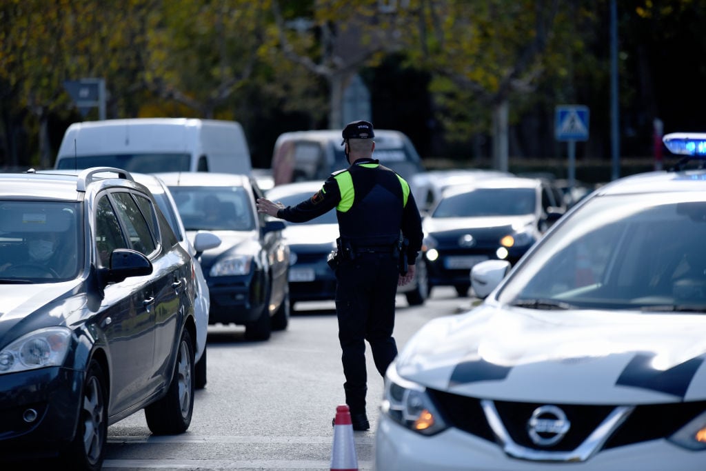
<path id="1" fill-rule="evenodd" d="M 493 167 L 508 169 L 508 103 L 532 93 L 561 57 L 570 4 L 558 0 L 421 0 L 410 2 L 417 28 L 407 43 L 410 60 L 434 75 L 433 93 L 447 136 L 491 129 Z M 486 110 L 490 110 L 490 114 Z"/>

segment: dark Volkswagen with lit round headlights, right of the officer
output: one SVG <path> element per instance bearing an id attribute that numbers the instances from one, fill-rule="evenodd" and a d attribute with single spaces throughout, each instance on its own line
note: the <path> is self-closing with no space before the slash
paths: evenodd
<path id="1" fill-rule="evenodd" d="M 517 262 L 563 214 L 544 205 L 543 190 L 541 180 L 520 177 L 448 187 L 422 221 L 429 284 L 466 296 L 476 263 Z"/>

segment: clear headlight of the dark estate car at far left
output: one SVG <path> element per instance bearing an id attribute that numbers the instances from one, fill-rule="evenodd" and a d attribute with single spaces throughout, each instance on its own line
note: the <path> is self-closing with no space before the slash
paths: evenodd
<path id="1" fill-rule="evenodd" d="M 23 335 L 0 350 L 0 374 L 61 366 L 71 345 L 71 330 L 49 327 Z"/>

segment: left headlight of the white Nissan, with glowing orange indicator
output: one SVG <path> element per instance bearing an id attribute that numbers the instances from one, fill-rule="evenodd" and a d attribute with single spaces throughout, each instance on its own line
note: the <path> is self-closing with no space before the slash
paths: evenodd
<path id="1" fill-rule="evenodd" d="M 438 434 L 448 427 L 426 388 L 401 378 L 394 364 L 385 375 L 381 410 L 402 427 L 422 435 Z"/>

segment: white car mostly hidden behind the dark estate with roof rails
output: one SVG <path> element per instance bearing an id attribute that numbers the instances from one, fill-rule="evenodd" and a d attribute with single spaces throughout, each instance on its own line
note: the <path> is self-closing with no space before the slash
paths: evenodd
<path id="1" fill-rule="evenodd" d="M 181 222 L 179 210 L 177 209 L 177 203 L 174 203 L 174 198 L 172 197 L 172 193 L 169 191 L 167 185 L 165 185 L 161 179 L 155 177 L 154 175 L 139 173 L 133 173 L 132 175 L 136 181 L 150 189 L 152 196 L 154 196 L 155 201 L 157 201 L 157 205 L 167 218 L 169 226 L 172 227 L 174 234 L 176 234 L 179 244 L 181 244 L 181 246 L 183 246 L 184 249 L 191 254 L 195 261 L 193 267 L 196 271 L 197 290 L 196 299 L 194 299 L 193 303 L 194 318 L 196 319 L 196 352 L 194 352 L 194 361 L 196 362 L 196 365 L 194 368 L 194 374 L 196 376 L 196 388 L 202 389 L 206 386 L 207 381 L 206 339 L 208 337 L 208 310 L 210 309 L 210 297 L 208 285 L 206 284 L 206 280 L 203 278 L 203 271 L 201 270 L 201 263 L 199 263 L 198 258 L 201 256 L 201 252 L 220 246 L 221 239 L 212 232 L 201 231 L 196 233 L 193 238 L 193 242 L 191 242 L 189 237 L 186 236 L 186 229 L 184 229 L 184 223 Z"/>

